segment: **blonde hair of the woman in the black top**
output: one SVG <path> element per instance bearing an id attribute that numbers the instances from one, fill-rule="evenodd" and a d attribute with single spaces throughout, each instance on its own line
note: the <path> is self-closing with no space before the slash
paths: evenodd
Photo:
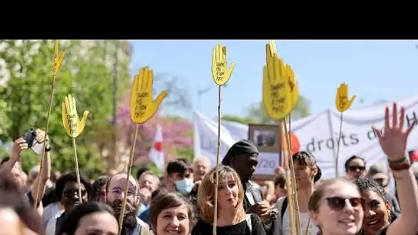
<path id="1" fill-rule="evenodd" d="M 201 220 L 206 223 L 213 223 L 214 216 L 214 187 L 216 183 L 216 167 L 212 168 L 208 174 L 203 177 L 201 185 L 199 186 L 199 192 L 197 195 L 197 202 L 199 204 Z M 229 166 L 220 165 L 219 170 L 219 182 L 221 182 L 228 175 L 232 175 L 232 178 L 238 186 L 238 203 L 235 207 L 235 219 L 234 221 L 241 221 L 245 218 L 245 210 L 243 206 L 244 201 L 244 189 L 241 184 L 236 171 Z M 219 213 L 218 213 L 219 214 Z"/>

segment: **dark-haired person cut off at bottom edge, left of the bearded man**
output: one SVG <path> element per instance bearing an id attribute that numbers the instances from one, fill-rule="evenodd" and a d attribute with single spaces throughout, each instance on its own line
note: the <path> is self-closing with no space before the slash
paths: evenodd
<path id="1" fill-rule="evenodd" d="M 118 220 L 107 204 L 89 201 L 76 205 L 65 214 L 58 235 L 107 234 L 117 235 Z"/>

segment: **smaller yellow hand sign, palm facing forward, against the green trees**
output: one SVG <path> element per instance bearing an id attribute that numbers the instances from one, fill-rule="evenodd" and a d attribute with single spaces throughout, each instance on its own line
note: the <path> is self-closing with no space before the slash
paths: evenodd
<path id="1" fill-rule="evenodd" d="M 83 132 L 89 111 L 84 111 L 83 118 L 79 120 L 76 99 L 71 95 L 66 96 L 61 104 L 61 114 L 65 132 L 67 132 L 69 137 L 75 138 Z"/>

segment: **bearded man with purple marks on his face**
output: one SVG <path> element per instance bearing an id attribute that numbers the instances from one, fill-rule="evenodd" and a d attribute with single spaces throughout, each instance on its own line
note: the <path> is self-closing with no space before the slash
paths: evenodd
<path id="1" fill-rule="evenodd" d="M 126 181 L 128 175 L 125 172 L 118 172 L 111 176 L 106 185 L 107 203 L 115 211 L 116 218 L 119 219 L 126 192 Z M 137 209 L 140 204 L 138 196 L 139 184 L 137 180 L 130 176 L 128 195 L 126 197 L 126 208 L 122 221 L 122 234 L 144 234 L 149 231 L 149 226 L 144 221 L 137 218 Z"/>

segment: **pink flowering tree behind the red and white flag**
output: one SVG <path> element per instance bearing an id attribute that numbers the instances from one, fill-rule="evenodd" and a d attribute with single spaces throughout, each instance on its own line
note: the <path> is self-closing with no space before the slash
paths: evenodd
<path id="1" fill-rule="evenodd" d="M 118 141 L 124 142 L 125 146 L 131 148 L 135 124 L 131 121 L 129 104 L 120 105 L 118 108 Z M 157 125 L 162 127 L 163 144 L 162 149 L 166 161 L 176 157 L 192 157 L 192 123 L 181 117 L 162 117 L 158 113 L 141 124 L 135 145 L 134 164 L 148 163 L 148 153 L 153 146 Z"/>

